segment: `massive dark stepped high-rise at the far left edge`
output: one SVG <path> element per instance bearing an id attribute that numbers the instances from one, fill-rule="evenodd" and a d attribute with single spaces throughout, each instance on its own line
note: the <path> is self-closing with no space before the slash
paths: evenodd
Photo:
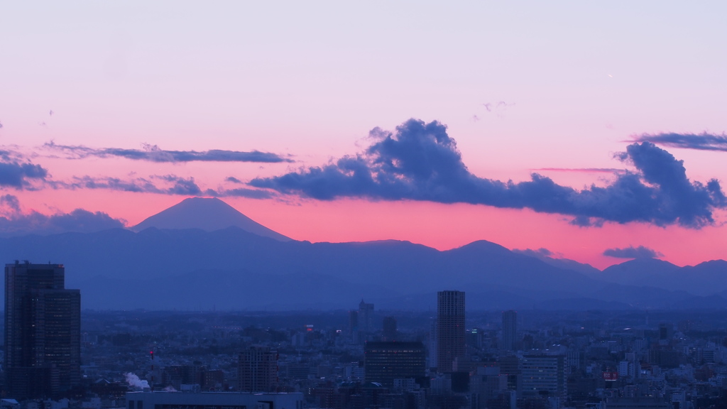
<path id="1" fill-rule="evenodd" d="M 81 381 L 81 293 L 62 264 L 5 265 L 8 397 L 57 397 Z"/>

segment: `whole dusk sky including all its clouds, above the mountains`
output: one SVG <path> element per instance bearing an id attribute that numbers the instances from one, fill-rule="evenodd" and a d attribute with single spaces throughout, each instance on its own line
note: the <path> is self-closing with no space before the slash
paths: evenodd
<path id="1" fill-rule="evenodd" d="M 311 242 L 726 258 L 725 15 L 4 2 L 0 228 L 134 226 L 217 196 Z"/>

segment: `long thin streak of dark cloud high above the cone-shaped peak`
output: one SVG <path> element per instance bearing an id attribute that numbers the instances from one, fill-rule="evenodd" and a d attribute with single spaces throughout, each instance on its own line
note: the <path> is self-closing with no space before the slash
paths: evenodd
<path id="1" fill-rule="evenodd" d="M 223 151 L 212 149 L 210 151 L 164 151 L 156 145 L 145 144 L 143 149 L 121 148 L 89 148 L 87 146 L 57 145 L 53 141 L 43 145 L 52 151 L 60 151 L 73 159 L 83 159 L 88 156 L 107 158 L 110 156 L 123 157 L 133 160 L 149 162 L 292 162 L 277 154 L 259 151 Z"/>

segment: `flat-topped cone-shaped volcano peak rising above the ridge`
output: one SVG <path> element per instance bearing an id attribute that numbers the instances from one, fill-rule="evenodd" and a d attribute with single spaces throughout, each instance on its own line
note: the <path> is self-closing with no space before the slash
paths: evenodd
<path id="1" fill-rule="evenodd" d="M 270 237 L 281 242 L 289 237 L 270 230 L 238 212 L 234 207 L 217 198 L 190 197 L 174 204 L 169 209 L 146 218 L 132 227 L 132 231 L 142 231 L 150 227 L 156 229 L 201 229 L 215 231 L 228 227 L 239 227 L 244 231 L 262 237 Z"/>

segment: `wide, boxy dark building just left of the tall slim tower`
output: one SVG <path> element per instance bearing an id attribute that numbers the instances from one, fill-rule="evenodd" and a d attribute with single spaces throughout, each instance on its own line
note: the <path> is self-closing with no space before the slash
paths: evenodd
<path id="1" fill-rule="evenodd" d="M 392 387 L 394 379 L 422 378 L 427 366 L 421 342 L 367 342 L 364 348 L 366 382 Z"/>

